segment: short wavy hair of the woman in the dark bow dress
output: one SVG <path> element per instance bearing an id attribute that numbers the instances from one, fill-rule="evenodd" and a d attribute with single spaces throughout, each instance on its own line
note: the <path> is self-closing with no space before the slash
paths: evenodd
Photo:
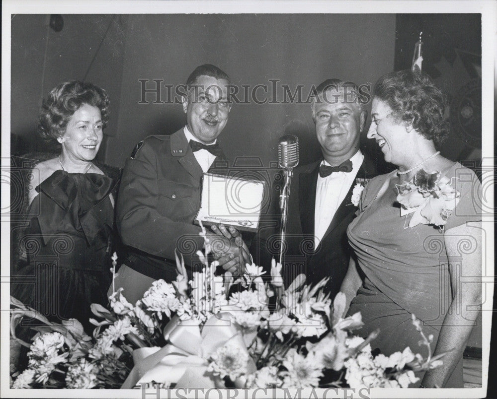
<path id="1" fill-rule="evenodd" d="M 38 132 L 52 143 L 66 133 L 66 128 L 73 114 L 83 105 L 91 105 L 100 110 L 103 127 L 109 121 L 109 96 L 107 92 L 94 84 L 73 80 L 58 84 L 43 100 L 38 117 Z"/>

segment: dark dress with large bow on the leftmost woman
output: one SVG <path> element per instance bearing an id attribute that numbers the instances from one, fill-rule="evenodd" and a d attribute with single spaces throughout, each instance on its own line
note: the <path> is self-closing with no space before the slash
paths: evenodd
<path id="1" fill-rule="evenodd" d="M 114 224 L 109 196 L 116 184 L 100 174 L 57 170 L 36 188 L 19 239 L 26 265 L 14 272 L 12 296 L 50 321 L 76 318 L 92 331 L 90 304 L 108 303 Z"/>

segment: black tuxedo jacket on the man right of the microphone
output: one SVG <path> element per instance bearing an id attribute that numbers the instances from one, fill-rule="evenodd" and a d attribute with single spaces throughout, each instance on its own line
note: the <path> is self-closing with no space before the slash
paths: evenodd
<path id="1" fill-rule="evenodd" d="M 330 277 L 325 292 L 330 292 L 331 298 L 334 298 L 340 290 L 352 252 L 347 240 L 347 226 L 357 210 L 351 202 L 353 188 L 358 182 L 364 185 L 364 179 L 367 181 L 377 172 L 373 161 L 364 155 L 345 199 L 336 209 L 320 244 L 314 248 L 316 187 L 320 164 L 321 160 L 294 169 L 288 203 L 285 280 L 289 283 L 302 272 L 306 274 L 307 284 L 316 284 L 323 277 Z"/>

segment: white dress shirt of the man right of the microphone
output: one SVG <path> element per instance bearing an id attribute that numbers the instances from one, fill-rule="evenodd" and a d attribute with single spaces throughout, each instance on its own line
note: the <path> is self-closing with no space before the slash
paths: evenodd
<path id="1" fill-rule="evenodd" d="M 314 248 L 318 248 L 320 241 L 330 226 L 331 220 L 347 195 L 355 176 L 362 165 L 364 155 L 358 150 L 351 158 L 351 172 L 333 172 L 330 176 L 318 175 L 316 187 L 316 208 L 314 211 Z M 321 165 L 331 166 L 323 160 Z M 321 166 L 320 165 L 320 166 Z"/>

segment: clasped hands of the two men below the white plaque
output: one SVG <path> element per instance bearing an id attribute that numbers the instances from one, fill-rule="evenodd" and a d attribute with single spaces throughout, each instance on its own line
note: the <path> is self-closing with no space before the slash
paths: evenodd
<path id="1" fill-rule="evenodd" d="M 212 225 L 211 229 L 212 232 L 207 232 L 206 239 L 214 259 L 225 271 L 234 276 L 242 276 L 245 273 L 245 265 L 252 264 L 252 257 L 242 235 L 233 226 L 226 228 L 223 224 Z"/>

